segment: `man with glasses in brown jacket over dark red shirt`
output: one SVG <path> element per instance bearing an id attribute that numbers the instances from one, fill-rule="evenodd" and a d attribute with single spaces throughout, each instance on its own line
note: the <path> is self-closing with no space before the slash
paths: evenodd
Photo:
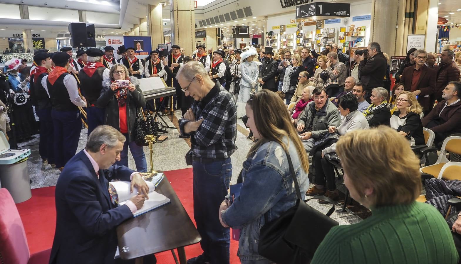
<path id="1" fill-rule="evenodd" d="M 425 50 L 417 50 L 414 53 L 414 67 L 405 68 L 400 77 L 400 82 L 405 85 L 405 90 L 413 92 L 418 97 L 418 102 L 423 107 L 425 115 L 431 111 L 429 109 L 429 96 L 434 93 L 437 79 L 437 72 L 424 64 L 426 58 L 427 52 Z"/>

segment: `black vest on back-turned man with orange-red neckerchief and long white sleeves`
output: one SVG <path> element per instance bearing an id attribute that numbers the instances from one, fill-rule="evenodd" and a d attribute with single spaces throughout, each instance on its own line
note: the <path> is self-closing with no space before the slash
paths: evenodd
<path id="1" fill-rule="evenodd" d="M 47 88 L 48 93 L 50 94 L 51 104 L 53 105 L 53 110 L 57 111 L 77 111 L 78 108 L 75 104 L 71 102 L 69 98 L 69 93 L 67 88 L 64 85 L 64 77 L 69 75 L 68 73 L 63 73 L 59 76 L 58 80 L 52 85 L 50 80 L 47 79 Z"/>

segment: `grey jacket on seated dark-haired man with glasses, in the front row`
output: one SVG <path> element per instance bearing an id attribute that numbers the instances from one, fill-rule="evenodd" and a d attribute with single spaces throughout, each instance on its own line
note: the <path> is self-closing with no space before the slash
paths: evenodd
<path id="1" fill-rule="evenodd" d="M 315 109 L 315 102 L 310 102 L 299 116 L 299 124 L 305 126 L 302 132 L 312 131 L 312 138 L 317 139 L 328 133 L 328 126 L 338 127 L 341 124 L 341 115 L 329 99 L 319 111 Z"/>

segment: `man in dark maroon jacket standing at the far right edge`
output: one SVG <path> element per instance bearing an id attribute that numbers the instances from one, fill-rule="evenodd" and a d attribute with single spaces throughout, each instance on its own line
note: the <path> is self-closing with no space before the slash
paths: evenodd
<path id="1" fill-rule="evenodd" d="M 437 102 L 443 100 L 442 91 L 450 81 L 460 80 L 460 70 L 458 69 L 458 66 L 456 66 L 455 62 L 453 62 L 454 57 L 455 53 L 452 50 L 443 50 L 440 55 L 440 64 L 438 65 L 437 71 L 437 83 L 435 86 L 434 97 L 431 98 L 431 106 L 434 105 L 435 99 L 437 99 Z"/>

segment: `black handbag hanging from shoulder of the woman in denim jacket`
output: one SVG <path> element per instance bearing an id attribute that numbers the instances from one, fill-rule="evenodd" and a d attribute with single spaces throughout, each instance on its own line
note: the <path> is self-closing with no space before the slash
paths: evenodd
<path id="1" fill-rule="evenodd" d="M 329 216 L 335 211 L 335 201 L 325 196 L 314 196 L 332 204 L 326 215 L 315 210 L 301 200 L 301 191 L 296 180 L 295 169 L 290 155 L 285 152 L 290 165 L 290 173 L 295 183 L 298 201 L 279 218 L 267 223 L 260 230 L 258 253 L 276 264 L 306 264 L 313 258 L 330 229 L 338 222 Z"/>

